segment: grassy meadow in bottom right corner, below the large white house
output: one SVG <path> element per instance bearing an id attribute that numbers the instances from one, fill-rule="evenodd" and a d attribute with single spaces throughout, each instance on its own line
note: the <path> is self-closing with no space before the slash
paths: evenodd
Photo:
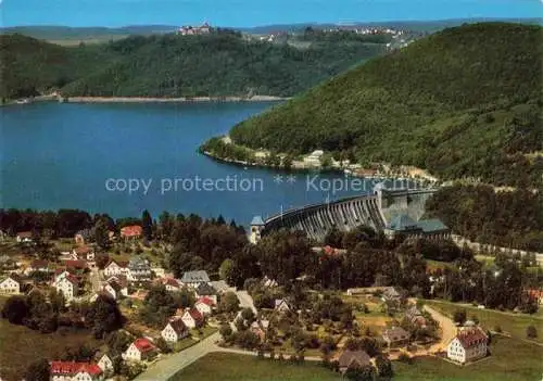
<path id="1" fill-rule="evenodd" d="M 543 347 L 516 339 L 496 336 L 492 355 L 480 363 L 460 367 L 441 358 L 415 359 L 412 365 L 394 363 L 394 380 L 407 381 L 509 381 L 541 380 Z"/>

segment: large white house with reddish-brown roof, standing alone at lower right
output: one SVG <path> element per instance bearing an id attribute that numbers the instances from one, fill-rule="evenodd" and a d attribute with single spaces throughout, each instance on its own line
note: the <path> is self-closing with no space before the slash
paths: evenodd
<path id="1" fill-rule="evenodd" d="M 488 338 L 478 327 L 460 330 L 446 347 L 453 361 L 466 364 L 487 356 Z"/>

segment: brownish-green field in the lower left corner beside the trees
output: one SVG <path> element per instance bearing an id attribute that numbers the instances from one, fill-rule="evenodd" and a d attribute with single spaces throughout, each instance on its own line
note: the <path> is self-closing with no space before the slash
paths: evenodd
<path id="1" fill-rule="evenodd" d="M 5 297 L 0 297 L 0 308 Z M 21 380 L 29 364 L 40 358 L 60 358 L 66 347 L 99 345 L 88 332 L 42 334 L 24 326 L 0 319 L 0 376 L 2 380 Z"/>

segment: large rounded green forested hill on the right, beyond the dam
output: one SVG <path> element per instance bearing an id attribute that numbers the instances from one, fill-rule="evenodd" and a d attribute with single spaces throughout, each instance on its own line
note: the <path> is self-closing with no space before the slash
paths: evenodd
<path id="1" fill-rule="evenodd" d="M 541 185 L 541 26 L 445 29 L 236 126 L 236 143 L 324 149 L 442 178 Z"/>

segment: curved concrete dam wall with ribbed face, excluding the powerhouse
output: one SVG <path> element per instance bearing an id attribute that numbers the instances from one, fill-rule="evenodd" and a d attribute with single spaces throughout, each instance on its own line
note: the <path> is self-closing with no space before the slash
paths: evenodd
<path id="1" fill-rule="evenodd" d="M 420 219 L 426 201 L 434 192 L 434 189 L 388 190 L 376 187 L 369 194 L 307 205 L 274 215 L 263 221 L 262 234 L 286 228 L 305 231 L 310 239 L 323 241 L 332 227 L 349 231 L 366 225 L 382 231 L 399 215 Z"/>

